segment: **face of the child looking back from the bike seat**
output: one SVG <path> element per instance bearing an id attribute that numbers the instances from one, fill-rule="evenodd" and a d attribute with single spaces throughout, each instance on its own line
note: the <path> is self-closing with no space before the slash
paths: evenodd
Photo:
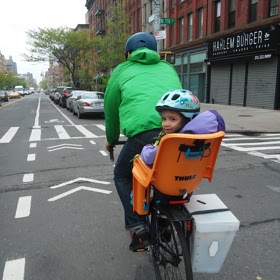
<path id="1" fill-rule="evenodd" d="M 161 112 L 161 126 L 165 134 L 175 133 L 183 124 L 183 117 L 179 112 L 164 110 Z"/>

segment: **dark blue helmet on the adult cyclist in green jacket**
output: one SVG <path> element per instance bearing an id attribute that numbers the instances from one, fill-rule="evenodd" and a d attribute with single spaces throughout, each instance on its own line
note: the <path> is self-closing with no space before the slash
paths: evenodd
<path id="1" fill-rule="evenodd" d="M 146 47 L 150 50 L 157 51 L 157 41 L 154 35 L 147 32 L 138 32 L 130 36 L 125 44 L 125 51 L 132 53 L 133 51 Z"/>

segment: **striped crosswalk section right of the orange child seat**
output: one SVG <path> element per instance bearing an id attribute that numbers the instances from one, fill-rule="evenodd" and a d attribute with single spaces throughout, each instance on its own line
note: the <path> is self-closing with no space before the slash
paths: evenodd
<path id="1" fill-rule="evenodd" d="M 226 134 L 222 146 L 280 163 L 280 133 Z"/>

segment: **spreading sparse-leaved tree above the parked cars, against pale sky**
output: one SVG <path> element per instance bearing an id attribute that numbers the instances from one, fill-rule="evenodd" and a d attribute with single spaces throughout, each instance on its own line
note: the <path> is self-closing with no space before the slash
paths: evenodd
<path id="1" fill-rule="evenodd" d="M 79 84 L 79 67 L 84 64 L 84 58 L 94 44 L 94 40 L 89 38 L 90 31 L 74 32 L 60 27 L 29 30 L 26 34 L 27 44 L 31 46 L 30 54 L 24 54 L 26 61 L 45 62 L 53 55 L 65 67 L 72 83 L 75 86 Z"/>

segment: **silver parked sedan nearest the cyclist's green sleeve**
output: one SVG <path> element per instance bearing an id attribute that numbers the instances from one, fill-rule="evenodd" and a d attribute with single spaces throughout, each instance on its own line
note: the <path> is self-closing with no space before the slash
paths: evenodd
<path id="1" fill-rule="evenodd" d="M 104 114 L 104 92 L 84 91 L 80 93 L 73 104 L 73 115 L 81 119 L 86 114 Z"/>

